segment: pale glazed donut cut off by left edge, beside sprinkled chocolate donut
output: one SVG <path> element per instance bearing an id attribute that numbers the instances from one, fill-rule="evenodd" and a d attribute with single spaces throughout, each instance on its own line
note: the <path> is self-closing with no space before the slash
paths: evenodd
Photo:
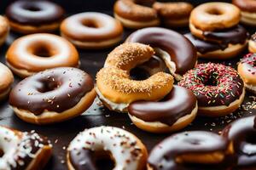
<path id="1" fill-rule="evenodd" d="M 0 100 L 2 100 L 8 96 L 11 85 L 14 82 L 12 71 L 2 63 L 0 63 L 0 77 Z"/>

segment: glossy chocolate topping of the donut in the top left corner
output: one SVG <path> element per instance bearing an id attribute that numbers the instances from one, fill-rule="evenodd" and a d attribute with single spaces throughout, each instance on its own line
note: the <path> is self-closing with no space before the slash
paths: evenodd
<path id="1" fill-rule="evenodd" d="M 63 18 L 64 10 L 49 1 L 15 1 L 6 10 L 9 20 L 25 25 L 44 25 L 58 22 Z"/>

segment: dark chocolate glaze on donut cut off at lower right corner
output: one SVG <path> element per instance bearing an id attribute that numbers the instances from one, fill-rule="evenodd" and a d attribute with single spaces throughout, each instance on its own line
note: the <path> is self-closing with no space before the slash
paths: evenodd
<path id="1" fill-rule="evenodd" d="M 222 135 L 232 141 L 237 166 L 256 166 L 256 116 L 231 123 L 224 128 Z"/>

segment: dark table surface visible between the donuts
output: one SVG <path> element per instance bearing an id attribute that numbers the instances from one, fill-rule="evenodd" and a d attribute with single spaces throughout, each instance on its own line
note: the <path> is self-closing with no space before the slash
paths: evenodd
<path id="1" fill-rule="evenodd" d="M 0 13 L 4 14 L 4 8 L 10 1 L 1 0 Z M 108 11 L 108 14 L 112 14 L 112 5 L 113 1 L 107 0 L 81 0 L 81 1 L 55 1 L 59 2 L 63 7 L 66 7 L 68 14 L 79 13 L 83 11 Z M 108 3 L 107 3 L 108 2 Z M 190 2 L 203 2 L 203 1 L 190 1 Z M 207 1 L 205 1 L 207 2 Z M 68 5 L 70 4 L 70 8 Z M 100 6 L 99 6 L 100 4 Z M 105 6 L 104 6 L 105 5 Z M 76 10 L 76 7 L 78 10 Z M 83 9 L 84 7 L 84 9 Z M 252 34 L 255 31 L 255 28 L 247 28 L 248 31 Z M 179 30 L 182 33 L 188 32 L 188 29 Z M 125 30 L 125 37 L 127 37 L 132 31 Z M 58 34 L 58 32 L 56 33 Z M 9 45 L 15 40 L 15 38 L 20 37 L 20 35 L 11 32 L 8 40 L 5 42 L 3 47 L 0 48 L 0 61 L 5 63 L 5 53 L 9 48 Z M 79 50 L 81 66 L 80 69 L 88 72 L 92 77 L 96 76 L 96 72 L 102 68 L 104 60 L 107 57 L 107 54 L 112 51 L 113 48 L 108 48 L 104 50 Z M 247 54 L 247 51 L 244 52 Z M 232 65 L 236 68 L 236 63 L 243 56 L 243 54 L 239 54 L 235 59 L 229 59 L 225 61 L 213 61 L 223 63 L 225 65 Z M 199 62 L 207 62 L 207 60 L 199 59 Z M 1 78 L 1 77 L 0 77 Z M 19 77 L 15 77 L 15 84 L 19 82 L 21 79 Z M 97 100 L 97 99 L 96 99 Z M 256 115 L 255 106 L 256 97 L 253 94 L 247 93 L 246 98 L 241 105 L 241 108 L 235 113 L 230 114 L 230 116 L 224 116 L 219 118 L 206 118 L 206 117 L 197 117 L 195 122 L 193 122 L 189 127 L 183 129 L 183 131 L 190 130 L 207 130 L 218 133 L 225 125 L 228 123 L 242 117 L 242 116 L 250 116 Z M 167 134 L 154 134 L 147 133 L 131 123 L 131 120 L 126 114 L 120 114 L 113 111 L 108 111 L 108 109 L 96 105 L 96 102 L 91 105 L 88 111 L 85 111 L 82 116 L 78 116 L 70 121 L 56 123 L 52 125 L 38 126 L 33 125 L 27 122 L 21 121 L 17 116 L 15 116 L 14 111 L 9 107 L 8 99 L 3 100 L 0 104 L 0 125 L 13 127 L 19 129 L 20 131 L 31 131 L 36 130 L 38 133 L 41 133 L 47 136 L 51 142 L 53 143 L 53 156 L 51 157 L 47 167 L 45 169 L 67 169 L 66 166 L 66 148 L 69 142 L 80 132 L 83 131 L 84 128 L 97 127 L 102 125 L 108 125 L 113 127 L 121 127 L 125 128 L 127 131 L 134 133 L 142 139 L 143 143 L 146 144 L 148 151 L 150 151 L 155 144 L 159 143 L 162 139 L 165 139 L 167 136 L 171 135 Z"/>

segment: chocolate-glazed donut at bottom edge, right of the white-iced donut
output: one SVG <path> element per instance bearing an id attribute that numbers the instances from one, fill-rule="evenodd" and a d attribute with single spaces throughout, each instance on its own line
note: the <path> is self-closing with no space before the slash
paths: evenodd
<path id="1" fill-rule="evenodd" d="M 228 140 L 216 133 L 191 131 L 173 134 L 151 150 L 148 170 L 223 168 L 228 146 Z"/>

